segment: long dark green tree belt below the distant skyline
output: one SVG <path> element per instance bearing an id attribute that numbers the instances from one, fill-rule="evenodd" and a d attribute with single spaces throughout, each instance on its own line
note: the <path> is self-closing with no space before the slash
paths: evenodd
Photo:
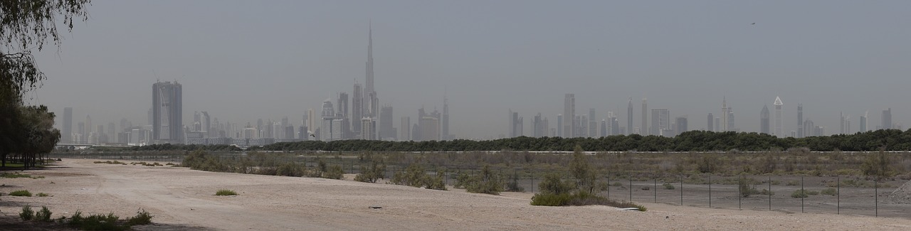
<path id="1" fill-rule="evenodd" d="M 853 135 L 779 138 L 760 133 L 690 131 L 679 136 L 604 136 L 598 138 L 527 137 L 495 140 L 449 141 L 377 141 L 337 140 L 283 142 L 253 146 L 263 151 L 382 151 L 382 152 L 457 152 L 457 151 L 573 151 L 580 146 L 586 151 L 641 152 L 712 152 L 768 151 L 793 147 L 811 151 L 907 151 L 911 150 L 911 129 L 902 132 L 886 129 Z"/>

